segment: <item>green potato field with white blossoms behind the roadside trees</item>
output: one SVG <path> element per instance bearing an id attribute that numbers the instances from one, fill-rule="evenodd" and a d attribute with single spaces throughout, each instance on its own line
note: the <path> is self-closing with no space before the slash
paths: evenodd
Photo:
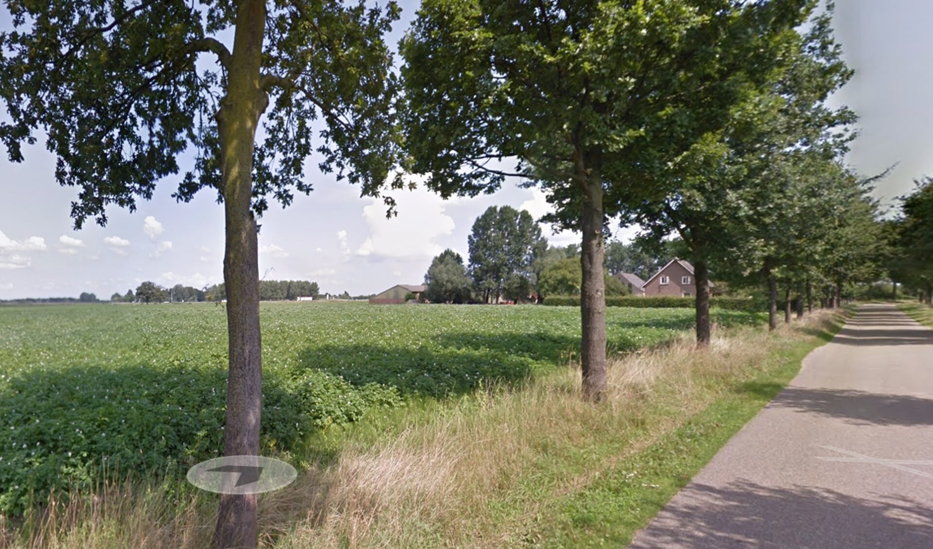
<path id="1" fill-rule="evenodd" d="M 579 309 L 264 303 L 263 452 L 374 408 L 516 383 L 576 360 Z M 609 348 L 659 344 L 691 309 L 606 311 Z M 721 325 L 758 315 L 713 311 Z M 0 514 L 108 474 L 184 474 L 222 447 L 215 304 L 0 307 Z"/>

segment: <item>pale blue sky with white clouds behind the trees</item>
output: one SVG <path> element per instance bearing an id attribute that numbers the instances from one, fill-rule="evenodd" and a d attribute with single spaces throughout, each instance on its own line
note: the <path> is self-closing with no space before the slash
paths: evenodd
<path id="1" fill-rule="evenodd" d="M 417 2 L 400 3 L 391 43 L 409 26 Z M 6 13 L 0 18 L 7 18 Z M 859 137 L 846 158 L 871 175 L 897 165 L 875 190 L 890 202 L 933 174 L 933 21 L 930 0 L 842 0 L 834 26 L 856 77 L 834 98 L 856 110 Z M 8 21 L 0 20 L 0 28 Z M 0 113 L 0 115 L 3 115 Z M 73 229 L 69 215 L 77 190 L 54 179 L 55 158 L 44 143 L 27 147 L 25 161 L 0 155 L 0 299 L 77 296 L 106 299 L 142 281 L 202 287 L 223 280 L 224 215 L 202 192 L 190 203 L 171 195 L 177 180 L 160 182 L 153 198 L 129 213 L 107 211 L 107 226 L 91 221 Z M 385 218 L 381 199 L 321 174 L 309 162 L 314 190 L 285 210 L 274 205 L 260 220 L 259 272 L 267 280 L 317 281 L 322 292 L 375 294 L 397 283 L 420 283 L 431 258 L 445 248 L 467 255 L 466 237 L 490 206 L 510 205 L 540 217 L 549 206 L 536 189 L 508 182 L 493 195 L 442 200 L 429 191 L 396 192 L 398 215 Z M 556 245 L 578 242 L 574 233 L 552 235 Z M 628 240 L 634 229 L 617 229 Z"/>

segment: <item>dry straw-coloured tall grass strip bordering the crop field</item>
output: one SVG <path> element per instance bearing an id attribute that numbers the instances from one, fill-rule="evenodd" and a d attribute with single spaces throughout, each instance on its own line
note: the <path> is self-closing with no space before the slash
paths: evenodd
<path id="1" fill-rule="evenodd" d="M 788 339 L 829 325 L 817 313 L 768 334 L 743 328 L 715 334 L 696 350 L 685 334 L 661 349 L 612 361 L 606 401 L 580 398 L 578 367 L 522 390 L 491 388 L 441 407 L 400 435 L 347 443 L 329 465 L 311 463 L 291 486 L 260 500 L 265 547 L 499 547 L 518 542 L 550 501 L 644 448 L 703 409 L 722 381 L 763 367 Z M 214 503 L 170 501 L 108 485 L 97 497 L 50 505 L 0 547 L 124 548 L 206 546 Z M 0 522 L 0 532 L 5 526 Z M 8 527 L 7 527 L 8 531 Z"/>

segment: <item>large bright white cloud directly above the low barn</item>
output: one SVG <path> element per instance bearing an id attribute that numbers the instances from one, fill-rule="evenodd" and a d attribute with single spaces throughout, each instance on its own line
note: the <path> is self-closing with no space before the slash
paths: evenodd
<path id="1" fill-rule="evenodd" d="M 356 249 L 357 255 L 424 259 L 439 254 L 441 237 L 453 232 L 453 217 L 445 213 L 450 201 L 441 199 L 425 188 L 401 191 L 396 199 L 398 215 L 385 217 L 382 199 L 371 199 L 363 208 L 363 218 L 369 226 L 369 236 Z"/>

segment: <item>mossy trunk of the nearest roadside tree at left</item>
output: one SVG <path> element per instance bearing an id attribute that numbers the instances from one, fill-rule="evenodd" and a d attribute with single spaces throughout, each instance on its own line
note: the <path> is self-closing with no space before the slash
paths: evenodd
<path id="1" fill-rule="evenodd" d="M 227 95 L 220 102 L 217 130 L 226 213 L 224 283 L 230 373 L 224 456 L 257 456 L 262 409 L 262 358 L 259 334 L 259 268 L 252 199 L 253 149 L 259 117 L 269 104 L 259 88 L 266 6 L 242 0 L 228 71 Z M 220 496 L 214 536 L 216 548 L 256 547 L 257 495 Z"/>

